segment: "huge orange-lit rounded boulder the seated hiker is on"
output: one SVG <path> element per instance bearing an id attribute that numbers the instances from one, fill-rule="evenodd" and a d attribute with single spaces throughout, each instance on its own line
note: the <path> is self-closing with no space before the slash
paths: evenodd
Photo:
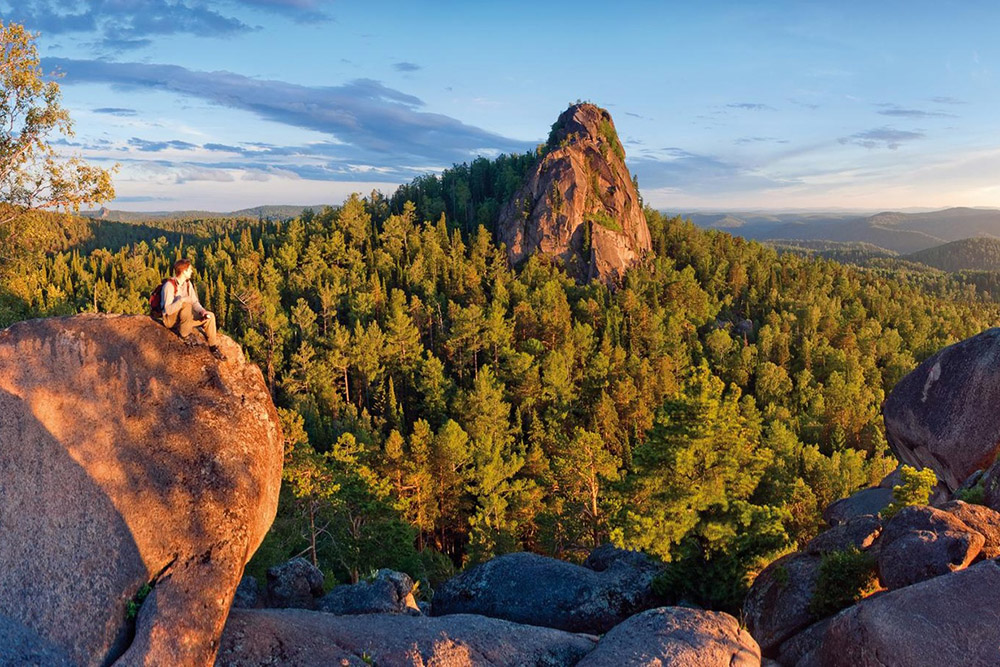
<path id="1" fill-rule="evenodd" d="M 260 370 L 221 347 L 139 316 L 0 331 L 0 627 L 78 665 L 212 663 L 282 458 Z"/>

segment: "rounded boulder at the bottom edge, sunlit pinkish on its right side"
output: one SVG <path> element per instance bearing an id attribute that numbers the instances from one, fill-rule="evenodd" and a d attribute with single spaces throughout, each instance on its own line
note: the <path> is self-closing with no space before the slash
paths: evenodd
<path id="1" fill-rule="evenodd" d="M 622 621 L 577 667 L 759 667 L 760 648 L 718 611 L 660 607 Z"/>

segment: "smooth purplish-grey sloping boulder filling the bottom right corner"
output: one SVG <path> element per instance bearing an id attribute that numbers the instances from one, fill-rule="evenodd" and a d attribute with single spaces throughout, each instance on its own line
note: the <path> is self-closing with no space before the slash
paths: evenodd
<path id="1" fill-rule="evenodd" d="M 831 619 L 809 665 L 1000 664 L 1000 566 L 987 560 L 884 595 Z M 802 663 L 800 663 L 802 664 Z"/>

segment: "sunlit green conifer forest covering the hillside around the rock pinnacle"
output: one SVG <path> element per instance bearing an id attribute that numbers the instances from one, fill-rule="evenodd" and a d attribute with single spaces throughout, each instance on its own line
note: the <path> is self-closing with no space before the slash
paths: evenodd
<path id="1" fill-rule="evenodd" d="M 655 257 L 615 289 L 537 256 L 514 272 L 488 229 L 524 170 L 504 160 L 281 223 L 97 223 L 7 265 L 0 325 L 145 312 L 191 258 L 285 421 L 258 574 L 306 553 L 339 580 L 390 566 L 433 584 L 611 540 L 672 562 L 668 594 L 733 609 L 748 572 L 895 466 L 887 390 L 997 321 L 955 277 L 779 254 L 649 209 Z"/>

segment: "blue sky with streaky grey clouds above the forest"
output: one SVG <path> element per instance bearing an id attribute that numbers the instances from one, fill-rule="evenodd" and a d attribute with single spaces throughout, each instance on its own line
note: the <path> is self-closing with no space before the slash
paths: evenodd
<path id="1" fill-rule="evenodd" d="M 644 200 L 1000 207 L 1000 4 L 0 0 L 125 210 L 336 204 L 608 109 Z"/>

